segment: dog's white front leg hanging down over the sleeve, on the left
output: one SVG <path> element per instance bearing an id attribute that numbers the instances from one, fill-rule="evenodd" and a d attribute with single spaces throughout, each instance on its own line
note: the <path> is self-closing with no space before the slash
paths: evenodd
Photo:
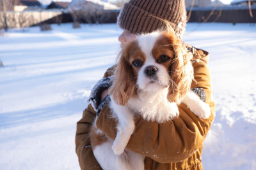
<path id="1" fill-rule="evenodd" d="M 118 125 L 116 127 L 117 134 L 113 143 L 112 150 L 116 155 L 120 155 L 124 152 L 125 146 L 134 132 L 134 120 L 133 113 L 127 108 L 127 106 L 120 106 L 115 102 L 112 102 L 112 107 L 115 116 L 118 118 Z"/>

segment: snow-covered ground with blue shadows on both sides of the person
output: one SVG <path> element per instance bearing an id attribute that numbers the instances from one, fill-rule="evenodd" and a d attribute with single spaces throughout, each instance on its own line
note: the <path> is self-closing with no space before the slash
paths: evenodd
<path id="1" fill-rule="evenodd" d="M 0 37 L 0 169 L 79 169 L 76 122 L 115 63 L 120 33 L 62 24 Z M 216 119 L 204 169 L 256 169 L 256 25 L 189 23 L 184 40 L 211 53 Z"/>

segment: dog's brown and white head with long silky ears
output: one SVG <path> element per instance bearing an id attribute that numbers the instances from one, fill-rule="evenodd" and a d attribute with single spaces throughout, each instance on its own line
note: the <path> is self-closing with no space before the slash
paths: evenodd
<path id="1" fill-rule="evenodd" d="M 124 105 L 140 91 L 168 88 L 168 101 L 179 104 L 193 79 L 191 59 L 174 31 L 141 34 L 122 49 L 109 94 Z"/>

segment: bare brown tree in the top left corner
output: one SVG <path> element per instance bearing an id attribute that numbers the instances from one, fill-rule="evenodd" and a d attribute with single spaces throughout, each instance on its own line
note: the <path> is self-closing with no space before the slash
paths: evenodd
<path id="1" fill-rule="evenodd" d="M 16 4 L 16 0 L 0 0 L 0 29 L 3 28 L 8 31 L 8 20 L 10 20 L 10 13 L 8 11 L 12 10 L 13 4 Z"/>

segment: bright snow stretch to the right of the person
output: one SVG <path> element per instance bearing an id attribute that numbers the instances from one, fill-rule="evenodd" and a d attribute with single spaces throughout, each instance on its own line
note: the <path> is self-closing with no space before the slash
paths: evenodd
<path id="1" fill-rule="evenodd" d="M 204 143 L 205 169 L 256 169 L 255 33 L 252 24 L 205 24 L 186 36 L 211 54 L 216 118 Z"/>

